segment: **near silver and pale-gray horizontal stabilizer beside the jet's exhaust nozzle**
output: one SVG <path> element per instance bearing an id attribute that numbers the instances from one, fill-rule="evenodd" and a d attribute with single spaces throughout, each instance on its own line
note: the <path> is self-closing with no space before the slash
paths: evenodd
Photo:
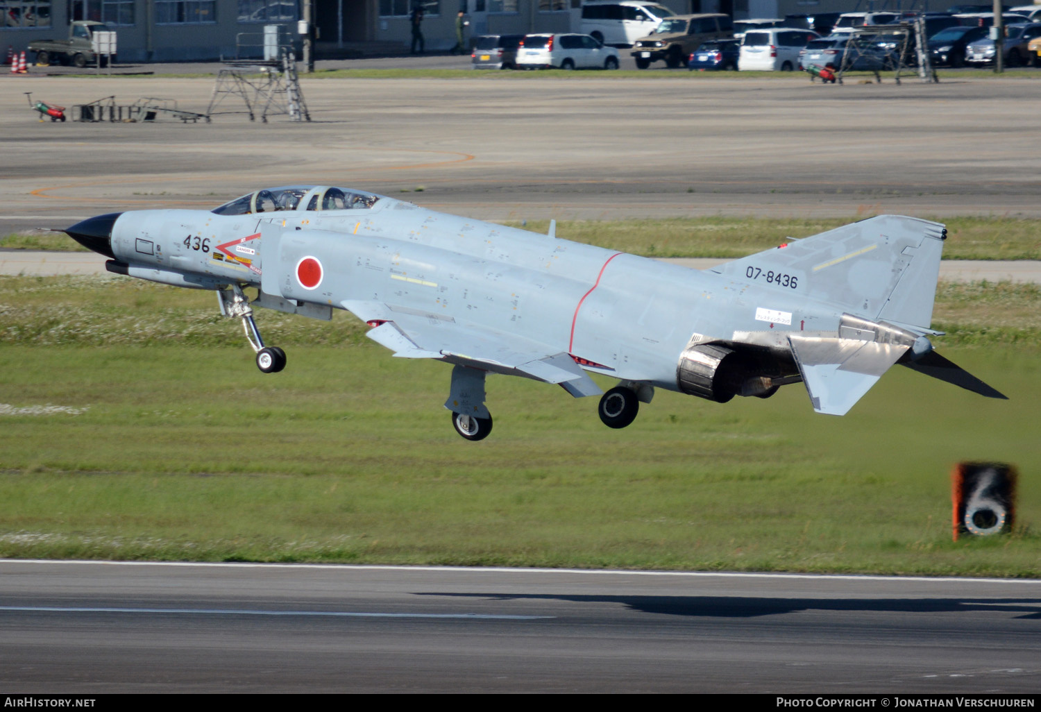
<path id="1" fill-rule="evenodd" d="M 845 415 L 908 350 L 852 338 L 789 336 L 788 341 L 813 409 L 829 415 Z"/>

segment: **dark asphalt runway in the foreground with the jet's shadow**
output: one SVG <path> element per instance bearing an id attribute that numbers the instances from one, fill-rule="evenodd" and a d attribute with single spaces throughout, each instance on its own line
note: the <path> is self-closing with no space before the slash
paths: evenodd
<path id="1" fill-rule="evenodd" d="M 1024 693 L 1041 581 L 0 561 L 6 692 Z"/>

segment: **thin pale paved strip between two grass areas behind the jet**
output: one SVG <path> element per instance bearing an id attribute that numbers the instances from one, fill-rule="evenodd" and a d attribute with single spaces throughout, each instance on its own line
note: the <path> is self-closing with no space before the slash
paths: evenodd
<path id="1" fill-rule="evenodd" d="M 663 259 L 695 270 L 707 270 L 722 259 Z M 86 252 L 34 252 L 0 250 L 0 275 L 102 275 L 106 274 L 105 258 Z M 940 263 L 940 279 L 949 281 L 1041 283 L 1041 261 L 1031 260 L 946 260 Z"/>

